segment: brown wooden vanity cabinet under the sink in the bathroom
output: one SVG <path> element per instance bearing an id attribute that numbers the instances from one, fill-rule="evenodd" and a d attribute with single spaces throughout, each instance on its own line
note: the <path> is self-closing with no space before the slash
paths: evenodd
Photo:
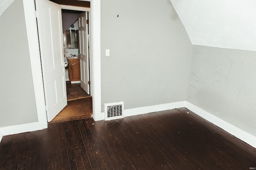
<path id="1" fill-rule="evenodd" d="M 70 82 L 80 81 L 80 59 L 68 59 L 68 76 Z"/>

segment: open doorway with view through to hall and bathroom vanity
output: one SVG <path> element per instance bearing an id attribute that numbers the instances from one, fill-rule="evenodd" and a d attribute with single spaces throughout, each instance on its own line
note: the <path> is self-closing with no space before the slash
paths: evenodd
<path id="1" fill-rule="evenodd" d="M 62 9 L 64 60 L 67 63 L 65 64 L 67 106 L 50 123 L 92 117 L 92 96 L 90 95 L 90 84 L 87 85 L 90 80 L 88 13 L 80 10 Z M 86 31 L 84 31 L 86 36 L 81 31 L 83 22 L 81 16 L 87 17 Z M 84 43 L 85 40 L 87 41 L 86 43 Z M 84 46 L 86 46 L 87 50 L 85 50 Z M 84 59 L 86 55 L 88 57 L 87 61 Z M 86 66 L 88 70 L 84 69 Z M 77 78 L 74 75 L 78 75 L 76 76 Z M 85 81 L 86 83 L 84 83 Z"/>

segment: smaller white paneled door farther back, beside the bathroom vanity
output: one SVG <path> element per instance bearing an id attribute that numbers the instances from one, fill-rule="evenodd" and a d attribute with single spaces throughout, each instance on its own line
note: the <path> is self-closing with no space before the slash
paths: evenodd
<path id="1" fill-rule="evenodd" d="M 80 78 L 81 87 L 90 94 L 89 84 L 89 45 L 88 45 L 88 12 L 79 14 L 79 49 L 80 49 Z"/>

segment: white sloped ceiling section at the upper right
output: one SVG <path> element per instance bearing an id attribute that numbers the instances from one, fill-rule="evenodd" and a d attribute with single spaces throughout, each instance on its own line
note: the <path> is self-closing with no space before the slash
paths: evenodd
<path id="1" fill-rule="evenodd" d="M 256 51 L 256 0 L 171 0 L 193 45 Z"/>

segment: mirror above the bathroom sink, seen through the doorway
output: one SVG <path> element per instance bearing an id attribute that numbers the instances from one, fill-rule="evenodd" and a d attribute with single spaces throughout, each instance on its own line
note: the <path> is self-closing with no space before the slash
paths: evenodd
<path id="1" fill-rule="evenodd" d="M 68 29 L 63 33 L 63 43 L 65 49 L 79 48 L 79 33 L 78 30 Z"/>

